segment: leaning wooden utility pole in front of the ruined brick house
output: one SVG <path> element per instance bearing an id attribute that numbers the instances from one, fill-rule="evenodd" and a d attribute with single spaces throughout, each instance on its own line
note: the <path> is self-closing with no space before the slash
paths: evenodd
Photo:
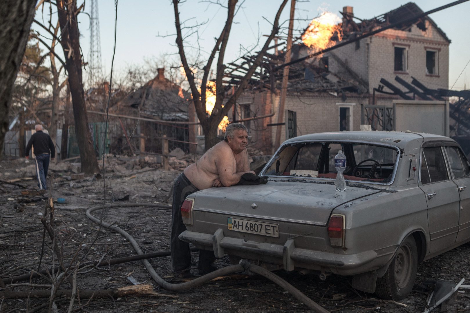
<path id="1" fill-rule="evenodd" d="M 292 51 L 292 31 L 294 29 L 294 12 L 295 12 L 295 1 L 292 0 L 290 3 L 290 19 L 289 19 L 289 33 L 287 35 L 287 47 L 286 47 L 286 57 L 285 63 L 290 62 L 290 55 Z M 277 114 L 277 123 L 282 123 L 284 120 L 284 107 L 286 104 L 287 96 L 287 82 L 289 80 L 289 66 L 284 67 L 284 73 L 282 75 L 282 89 L 281 89 L 281 102 L 279 103 L 279 112 Z M 287 125 L 285 125 L 287 127 Z M 282 125 L 277 125 L 276 129 L 276 141 L 274 143 L 274 150 L 279 148 L 281 145 L 281 131 Z"/>

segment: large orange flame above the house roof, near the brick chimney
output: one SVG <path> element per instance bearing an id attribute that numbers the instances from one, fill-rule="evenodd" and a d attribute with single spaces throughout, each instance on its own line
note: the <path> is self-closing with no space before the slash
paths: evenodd
<path id="1" fill-rule="evenodd" d="M 337 22 L 341 21 L 339 17 L 331 12 L 324 12 L 320 17 L 314 18 L 302 34 L 302 42 L 317 51 L 329 48 L 336 44 L 330 40 L 333 35 L 337 34 L 338 40 L 343 38 L 341 25 Z"/>

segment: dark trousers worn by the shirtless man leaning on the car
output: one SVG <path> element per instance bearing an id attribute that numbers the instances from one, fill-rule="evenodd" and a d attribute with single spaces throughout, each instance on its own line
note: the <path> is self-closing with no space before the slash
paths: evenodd
<path id="1" fill-rule="evenodd" d="M 180 240 L 178 236 L 186 230 L 181 217 L 181 206 L 184 200 L 191 193 L 198 191 L 189 180 L 188 177 L 181 173 L 173 185 L 173 209 L 172 209 L 172 233 L 170 237 L 170 251 L 172 253 L 172 270 L 180 271 L 191 266 L 191 252 L 189 252 L 189 244 Z M 210 266 L 215 260 L 214 252 L 208 250 L 199 251 L 199 263 L 197 268 L 204 269 Z"/>

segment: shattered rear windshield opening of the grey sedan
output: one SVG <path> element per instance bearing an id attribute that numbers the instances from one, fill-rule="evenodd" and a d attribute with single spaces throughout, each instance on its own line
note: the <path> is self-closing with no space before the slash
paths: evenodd
<path id="1" fill-rule="evenodd" d="M 346 156 L 345 179 L 390 183 L 398 150 L 350 142 L 307 142 L 285 145 L 264 175 L 336 178 L 335 156 Z"/>

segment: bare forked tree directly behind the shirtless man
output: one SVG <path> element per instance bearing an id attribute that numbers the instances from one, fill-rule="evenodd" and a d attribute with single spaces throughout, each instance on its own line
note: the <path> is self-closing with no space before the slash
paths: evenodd
<path id="1" fill-rule="evenodd" d="M 273 29 L 271 34 L 266 39 L 266 43 L 261 48 L 261 51 L 258 52 L 254 61 L 250 64 L 248 71 L 245 76 L 240 79 L 239 84 L 235 87 L 235 92 L 232 93 L 227 102 L 224 103 L 225 95 L 225 86 L 223 78 L 225 76 L 225 65 L 224 65 L 224 56 L 226 52 L 228 37 L 233 23 L 233 18 L 235 15 L 235 6 L 237 0 L 228 0 L 227 4 L 227 21 L 224 28 L 222 29 L 219 38 L 217 38 L 216 43 L 212 49 L 212 52 L 203 68 L 203 78 L 200 82 L 200 88 L 198 88 L 198 81 L 196 80 L 195 73 L 188 65 L 188 59 L 184 50 L 183 35 L 181 32 L 181 22 L 180 14 L 178 10 L 178 4 L 180 0 L 173 0 L 174 14 L 175 14 L 175 24 L 176 24 L 176 44 L 178 46 L 178 51 L 181 58 L 181 63 L 185 70 L 186 76 L 188 77 L 188 83 L 190 90 L 192 92 L 192 98 L 194 101 L 194 106 L 196 108 L 196 114 L 201 122 L 201 126 L 204 130 L 205 135 L 205 149 L 208 150 L 215 144 L 217 144 L 217 128 L 219 123 L 222 121 L 225 115 L 228 114 L 229 110 L 235 104 L 236 99 L 242 94 L 244 88 L 247 86 L 251 76 L 255 73 L 255 70 L 260 65 L 264 54 L 266 53 L 269 44 L 273 40 L 274 36 L 279 31 L 279 18 L 281 16 L 282 10 L 285 7 L 288 0 L 283 0 L 277 14 L 274 18 Z M 209 73 L 211 71 L 212 62 L 215 59 L 215 56 L 219 52 L 217 65 L 216 65 L 216 79 L 215 79 L 215 90 L 216 90 L 216 100 L 214 108 L 212 109 L 211 115 L 207 116 L 206 114 L 206 90 L 207 90 L 207 81 Z"/>

